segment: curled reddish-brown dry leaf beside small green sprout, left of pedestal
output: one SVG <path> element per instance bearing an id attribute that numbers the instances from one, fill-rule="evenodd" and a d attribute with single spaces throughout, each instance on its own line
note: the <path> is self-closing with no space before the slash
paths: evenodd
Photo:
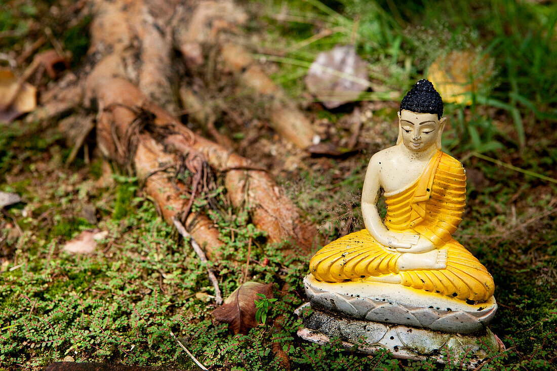
<path id="1" fill-rule="evenodd" d="M 255 300 L 261 299 L 257 294 L 263 294 L 267 299 L 273 297 L 273 284 L 260 284 L 258 282 L 245 282 L 224 300 L 221 307 L 213 310 L 217 321 L 227 323 L 234 334 L 247 334 L 257 326 L 255 320 Z"/>

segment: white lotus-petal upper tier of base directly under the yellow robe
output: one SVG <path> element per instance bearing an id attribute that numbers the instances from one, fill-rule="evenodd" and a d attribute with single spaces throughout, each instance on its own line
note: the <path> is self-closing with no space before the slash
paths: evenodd
<path id="1" fill-rule="evenodd" d="M 447 333 L 483 331 L 497 310 L 495 298 L 480 304 L 395 284 L 369 281 L 329 283 L 304 277 L 314 309 L 355 319 L 408 325 Z"/>

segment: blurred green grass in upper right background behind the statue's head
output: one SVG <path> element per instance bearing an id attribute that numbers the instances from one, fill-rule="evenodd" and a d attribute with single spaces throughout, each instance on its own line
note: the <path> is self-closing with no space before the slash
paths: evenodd
<path id="1" fill-rule="evenodd" d="M 317 53 L 336 44 L 353 44 L 370 64 L 370 77 L 379 91 L 361 94 L 359 100 L 399 101 L 401 92 L 427 74 L 429 65 L 452 51 L 472 51 L 488 56 L 483 66 L 492 71 L 473 92 L 470 109 L 448 106 L 455 123 L 448 148 L 460 152 L 494 152 L 511 145 L 524 148 L 526 125 L 557 120 L 557 43 L 554 3 L 515 2 L 409 2 L 289 0 L 276 2 L 270 13 L 286 11 L 286 22 L 268 19 L 270 47 L 286 57 L 267 56 L 281 62 L 275 77 L 291 95 L 304 90 L 304 76 Z M 316 30 L 332 30 L 316 35 Z M 277 32 L 278 31 L 278 32 Z M 282 46 L 284 38 L 289 46 Z M 278 43 L 277 43 L 278 40 Z M 386 93 L 385 93 L 386 91 Z M 390 94 L 389 93 L 393 93 Z M 503 133 L 487 116 L 504 111 L 511 126 Z M 471 114 L 468 114 L 468 110 Z M 525 116 L 533 119 L 527 119 Z M 535 121 L 535 122 L 532 122 Z M 509 133 L 511 136 L 509 137 Z M 458 138 L 458 139 L 457 139 Z"/>

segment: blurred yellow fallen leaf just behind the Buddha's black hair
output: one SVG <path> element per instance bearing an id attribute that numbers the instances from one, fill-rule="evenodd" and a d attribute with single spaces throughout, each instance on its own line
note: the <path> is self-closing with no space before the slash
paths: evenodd
<path id="1" fill-rule="evenodd" d="M 494 75 L 494 61 L 472 51 L 453 51 L 439 56 L 429 66 L 427 79 L 444 102 L 472 104 L 470 94 L 477 92 Z"/>

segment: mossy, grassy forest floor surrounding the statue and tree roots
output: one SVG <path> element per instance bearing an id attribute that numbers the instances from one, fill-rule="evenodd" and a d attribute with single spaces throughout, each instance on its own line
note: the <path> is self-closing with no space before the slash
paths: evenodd
<path id="1" fill-rule="evenodd" d="M 467 3 L 449 10 L 429 2 L 404 9 L 348 0 L 242 2 L 250 20 L 238 32 L 255 58 L 265 56 L 263 69 L 299 103 L 322 143 L 336 150 L 310 154 L 287 143 L 266 123 L 261 106 L 241 92 L 221 96 L 216 126 L 235 152 L 269 169 L 326 243 L 363 228 L 367 163 L 397 138 L 400 98 L 385 98 L 385 92 L 407 91 L 442 53 L 488 50 L 493 75 L 472 104 L 446 105 L 443 139 L 468 176 L 466 213 L 454 237 L 494 276 L 499 309 L 490 328 L 507 348 L 481 369 L 556 369 L 557 69 L 551 66 L 557 61 L 557 7 L 493 1 L 471 10 Z M 54 38 L 73 53 L 71 69 L 79 69 L 90 19 L 64 18 L 66 5 L 9 0 L 0 13 L 0 52 L 22 55 L 48 26 L 51 36 L 36 51 L 51 47 Z M 501 24 L 482 23 L 496 11 Z M 446 23 L 436 23 L 440 14 Z M 519 27 L 532 17 L 535 26 Z M 447 32 L 451 41 L 439 37 Z M 327 110 L 307 92 L 303 77 L 317 53 L 336 43 L 355 45 L 383 90 Z M 17 70 L 31 60 L 19 61 Z M 40 92 L 48 89 L 46 77 L 37 83 Z M 188 127 L 207 135 L 195 123 Z M 56 123 L 23 117 L 0 129 L 0 191 L 22 198 L 0 215 L 0 368 L 40 369 L 67 356 L 195 368 L 172 330 L 209 369 L 461 369 L 459 363 L 368 356 L 297 338 L 300 320 L 292 312 L 306 300 L 301 280 L 309 257 L 284 256 L 280 243 L 267 243 L 220 187 L 211 195 L 216 202 L 202 194 L 193 208 L 210 209 L 224 242 L 222 258 L 209 262 L 222 296 L 257 281 L 274 283 L 278 298 L 265 324 L 232 335 L 211 315 L 217 305 L 206 266 L 159 216 L 133 174 L 104 162 L 94 141 L 68 163 L 72 147 Z M 65 251 L 84 231 L 105 233 L 92 252 Z"/>

